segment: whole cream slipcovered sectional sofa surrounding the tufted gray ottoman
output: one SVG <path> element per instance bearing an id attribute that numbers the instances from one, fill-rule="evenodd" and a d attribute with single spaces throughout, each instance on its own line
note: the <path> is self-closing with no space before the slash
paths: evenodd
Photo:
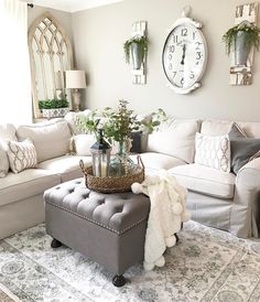
<path id="1" fill-rule="evenodd" d="M 44 220 L 43 192 L 58 183 L 79 177 L 79 159 L 71 155 L 69 142 L 74 115 L 46 123 L 0 126 L 0 140 L 31 139 L 37 166 L 0 179 L 0 238 Z M 260 217 L 260 158 L 243 165 L 237 175 L 194 162 L 195 136 L 227 134 L 231 121 L 169 119 L 158 132 L 149 134 L 141 153 L 147 173 L 169 170 L 188 188 L 187 207 L 192 218 L 208 226 L 229 230 L 238 237 L 258 237 Z M 248 137 L 260 138 L 260 122 L 238 123 Z"/>

